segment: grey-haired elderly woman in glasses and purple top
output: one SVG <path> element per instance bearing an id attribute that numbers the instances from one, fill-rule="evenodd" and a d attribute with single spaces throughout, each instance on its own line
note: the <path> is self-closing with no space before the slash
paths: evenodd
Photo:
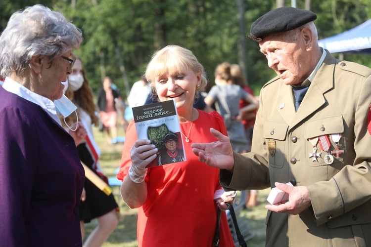
<path id="1" fill-rule="evenodd" d="M 13 13 L 0 36 L 1 246 L 82 246 L 84 169 L 56 114 L 74 107 L 54 105 L 81 41 L 75 25 L 39 4 Z"/>

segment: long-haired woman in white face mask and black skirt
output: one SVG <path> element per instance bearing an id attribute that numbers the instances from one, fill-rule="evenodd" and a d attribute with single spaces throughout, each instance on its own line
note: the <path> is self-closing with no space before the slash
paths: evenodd
<path id="1" fill-rule="evenodd" d="M 73 125 L 77 121 L 87 130 L 86 139 L 77 146 L 80 160 L 95 174 L 107 182 L 106 176 L 99 166 L 99 148 L 93 138 L 93 125 L 97 126 L 98 118 L 95 115 L 97 107 L 93 101 L 93 91 L 87 80 L 81 59 L 72 54 L 70 59 L 75 60 L 71 74 L 68 76 L 68 88 L 65 95 L 77 106 L 76 114 L 65 118 L 66 124 Z M 62 117 L 61 117 L 62 118 Z M 63 123 L 64 121 L 62 121 Z M 68 127 L 63 123 L 67 130 Z M 87 237 L 84 247 L 102 246 L 118 224 L 118 205 L 113 195 L 107 196 L 96 187 L 88 178 L 85 179 L 83 196 L 80 204 L 80 225 L 82 239 L 85 235 L 84 223 L 97 218 L 98 226 Z"/>

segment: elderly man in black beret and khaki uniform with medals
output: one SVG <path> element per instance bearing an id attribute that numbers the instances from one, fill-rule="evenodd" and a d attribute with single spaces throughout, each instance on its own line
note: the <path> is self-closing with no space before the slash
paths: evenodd
<path id="1" fill-rule="evenodd" d="M 251 26 L 278 75 L 261 90 L 251 153 L 214 129 L 219 141 L 192 151 L 226 190 L 289 194 L 266 206 L 266 246 L 371 246 L 371 69 L 319 47 L 316 18 L 282 7 Z"/>

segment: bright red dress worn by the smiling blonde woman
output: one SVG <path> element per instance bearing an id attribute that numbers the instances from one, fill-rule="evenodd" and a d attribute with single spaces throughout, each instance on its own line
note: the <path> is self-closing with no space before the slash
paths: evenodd
<path id="1" fill-rule="evenodd" d="M 148 168 L 145 178 L 148 195 L 139 208 L 137 238 L 139 247 L 209 247 L 216 229 L 217 206 L 213 200 L 220 186 L 219 169 L 198 161 L 190 147 L 193 142 L 213 142 L 211 127 L 227 135 L 223 118 L 217 112 L 199 112 L 193 121 L 189 142 L 183 138 L 185 162 Z M 133 121 L 134 122 L 134 121 Z M 188 133 L 191 123 L 181 124 Z M 130 149 L 137 140 L 130 123 L 117 178 L 123 180 L 131 164 Z M 221 220 L 220 247 L 234 247 L 225 212 Z"/>

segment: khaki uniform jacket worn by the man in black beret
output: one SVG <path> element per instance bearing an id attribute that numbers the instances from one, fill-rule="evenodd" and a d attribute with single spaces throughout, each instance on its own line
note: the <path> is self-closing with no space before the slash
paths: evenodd
<path id="1" fill-rule="evenodd" d="M 264 85 L 252 152 L 234 153 L 233 174 L 221 170 L 221 183 L 226 190 L 249 190 L 296 182 L 308 187 L 312 203 L 298 215 L 268 211 L 267 246 L 371 246 L 370 104 L 371 69 L 328 51 L 296 113 L 291 86 L 278 77 Z M 342 134 L 344 153 L 327 165 L 317 143 L 321 158 L 313 161 L 308 139 L 334 133 Z"/>

